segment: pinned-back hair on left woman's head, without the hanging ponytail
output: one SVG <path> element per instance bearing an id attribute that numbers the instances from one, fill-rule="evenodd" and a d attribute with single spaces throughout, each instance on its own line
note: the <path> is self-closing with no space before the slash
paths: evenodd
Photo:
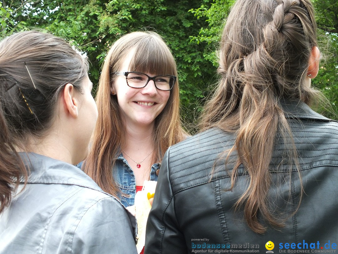
<path id="1" fill-rule="evenodd" d="M 87 70 L 87 61 L 51 34 L 26 31 L 2 40 L 1 104 L 11 133 L 19 138 L 43 134 L 63 85 L 81 90 Z"/>

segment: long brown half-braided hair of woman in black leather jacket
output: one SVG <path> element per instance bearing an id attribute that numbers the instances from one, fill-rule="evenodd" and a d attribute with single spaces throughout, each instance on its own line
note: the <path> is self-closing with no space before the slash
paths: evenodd
<path id="1" fill-rule="evenodd" d="M 238 154 L 231 189 L 240 165 L 250 176 L 249 186 L 235 207 L 244 206 L 247 224 L 257 233 L 267 228 L 258 220 L 259 212 L 272 226 L 284 225 L 268 206 L 269 164 L 276 139 L 281 136 L 288 144 L 284 161 L 298 169 L 292 132 L 280 100 L 309 104 L 317 97 L 317 91 L 304 86 L 311 49 L 316 46 L 316 28 L 309 0 L 238 0 L 223 30 L 218 68 L 221 79 L 206 104 L 200 128 L 236 133 L 234 146 L 222 156 L 228 160 L 230 153 Z"/>

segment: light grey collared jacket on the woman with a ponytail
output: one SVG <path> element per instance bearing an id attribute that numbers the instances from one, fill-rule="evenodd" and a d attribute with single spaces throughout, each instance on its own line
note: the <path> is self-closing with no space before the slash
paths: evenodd
<path id="1" fill-rule="evenodd" d="M 0 253 L 137 253 L 135 217 L 117 199 L 73 165 L 20 156 L 30 175 L 0 215 Z"/>

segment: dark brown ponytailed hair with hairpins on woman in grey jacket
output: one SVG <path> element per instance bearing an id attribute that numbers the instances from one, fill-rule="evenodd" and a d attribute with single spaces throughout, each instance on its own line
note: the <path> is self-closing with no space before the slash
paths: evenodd
<path id="1" fill-rule="evenodd" d="M 59 92 L 67 83 L 81 92 L 87 72 L 87 60 L 51 34 L 25 31 L 0 42 L 0 213 L 27 181 L 17 149 L 48 135 Z"/>

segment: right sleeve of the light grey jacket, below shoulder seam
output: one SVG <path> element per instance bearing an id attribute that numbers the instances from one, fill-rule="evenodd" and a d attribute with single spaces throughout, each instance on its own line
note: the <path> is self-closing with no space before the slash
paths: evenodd
<path id="1" fill-rule="evenodd" d="M 137 254 L 130 218 L 111 197 L 93 204 L 75 226 L 72 253 Z"/>

